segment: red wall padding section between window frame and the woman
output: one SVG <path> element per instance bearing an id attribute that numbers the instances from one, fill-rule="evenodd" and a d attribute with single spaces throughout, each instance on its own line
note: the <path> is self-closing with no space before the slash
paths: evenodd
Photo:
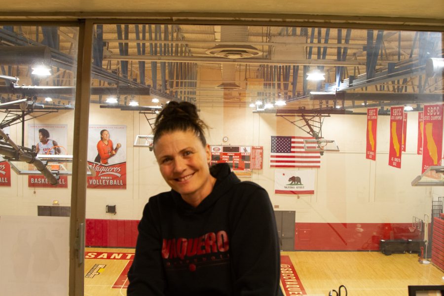
<path id="1" fill-rule="evenodd" d="M 134 248 L 137 240 L 137 220 L 86 219 L 88 247 Z"/>

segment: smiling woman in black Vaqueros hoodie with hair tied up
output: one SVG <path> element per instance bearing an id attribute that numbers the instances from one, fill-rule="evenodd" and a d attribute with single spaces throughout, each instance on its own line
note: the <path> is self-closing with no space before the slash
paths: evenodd
<path id="1" fill-rule="evenodd" d="M 128 296 L 278 295 L 279 246 L 267 192 L 222 163 L 209 168 L 196 107 L 170 102 L 153 150 L 171 191 L 151 197 L 139 223 Z"/>

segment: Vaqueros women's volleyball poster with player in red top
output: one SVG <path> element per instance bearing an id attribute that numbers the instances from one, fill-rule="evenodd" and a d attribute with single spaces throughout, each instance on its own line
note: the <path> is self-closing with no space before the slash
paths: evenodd
<path id="1" fill-rule="evenodd" d="M 126 189 L 126 125 L 89 125 L 87 188 Z"/>

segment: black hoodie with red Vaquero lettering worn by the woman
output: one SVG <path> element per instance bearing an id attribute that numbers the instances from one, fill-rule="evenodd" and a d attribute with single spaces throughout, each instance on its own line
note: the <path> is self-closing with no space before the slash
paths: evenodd
<path id="1" fill-rule="evenodd" d="M 174 190 L 151 197 L 139 223 L 128 296 L 275 296 L 279 244 L 267 192 L 227 164 L 196 208 Z"/>

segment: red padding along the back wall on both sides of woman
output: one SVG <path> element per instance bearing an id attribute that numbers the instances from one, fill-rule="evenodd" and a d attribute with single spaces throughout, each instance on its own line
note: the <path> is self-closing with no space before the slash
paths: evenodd
<path id="1" fill-rule="evenodd" d="M 86 246 L 134 248 L 137 220 L 86 219 Z M 377 251 L 381 239 L 421 239 L 411 223 L 299 223 L 295 250 Z"/>

